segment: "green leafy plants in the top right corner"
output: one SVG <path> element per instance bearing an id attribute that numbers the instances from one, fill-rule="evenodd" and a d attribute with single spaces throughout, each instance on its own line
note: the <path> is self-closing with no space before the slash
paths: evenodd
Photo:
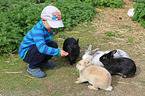
<path id="1" fill-rule="evenodd" d="M 141 23 L 142 27 L 145 28 L 145 1 L 138 0 L 136 4 L 134 4 L 134 12 L 132 20 L 138 21 Z"/>

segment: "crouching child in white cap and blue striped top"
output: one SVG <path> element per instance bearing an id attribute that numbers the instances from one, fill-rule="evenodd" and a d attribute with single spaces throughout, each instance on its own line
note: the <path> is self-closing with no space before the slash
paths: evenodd
<path id="1" fill-rule="evenodd" d="M 68 53 L 58 49 L 52 40 L 53 28 L 64 27 L 61 12 L 54 6 L 46 6 L 41 13 L 41 20 L 26 34 L 20 47 L 21 59 L 29 63 L 27 72 L 36 78 L 45 77 L 41 68 L 53 68 L 54 62 L 48 62 L 53 56 L 67 56 Z"/>

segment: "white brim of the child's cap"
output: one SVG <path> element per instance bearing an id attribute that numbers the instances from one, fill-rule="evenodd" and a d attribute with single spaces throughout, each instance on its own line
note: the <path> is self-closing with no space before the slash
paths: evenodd
<path id="1" fill-rule="evenodd" d="M 47 22 L 52 28 L 64 27 L 62 20 L 47 20 Z"/>

